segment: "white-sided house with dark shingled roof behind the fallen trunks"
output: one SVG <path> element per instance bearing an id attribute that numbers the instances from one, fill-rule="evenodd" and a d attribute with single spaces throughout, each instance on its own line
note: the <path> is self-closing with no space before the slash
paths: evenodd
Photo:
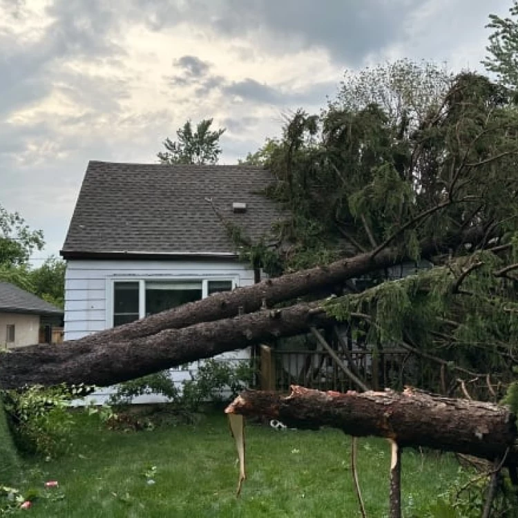
<path id="1" fill-rule="evenodd" d="M 256 282 L 224 222 L 267 235 L 280 217 L 260 194 L 271 180 L 251 166 L 90 162 L 61 250 L 65 339 Z"/>

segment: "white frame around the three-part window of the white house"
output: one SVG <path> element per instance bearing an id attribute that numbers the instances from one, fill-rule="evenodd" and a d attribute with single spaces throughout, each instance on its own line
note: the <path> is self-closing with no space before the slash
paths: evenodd
<path id="1" fill-rule="evenodd" d="M 138 282 L 139 283 L 139 318 L 146 316 L 146 281 L 164 282 L 200 282 L 202 281 L 202 299 L 209 296 L 209 281 L 227 280 L 232 282 L 232 289 L 239 286 L 239 276 L 217 275 L 217 276 L 111 276 L 106 279 L 106 328 L 113 327 L 113 300 L 115 282 Z"/>

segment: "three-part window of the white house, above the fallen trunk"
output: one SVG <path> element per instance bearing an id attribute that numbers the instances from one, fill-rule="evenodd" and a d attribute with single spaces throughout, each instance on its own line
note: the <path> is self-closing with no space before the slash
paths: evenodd
<path id="1" fill-rule="evenodd" d="M 116 280 L 113 282 L 113 327 L 200 300 L 218 291 L 231 291 L 234 285 L 229 279 Z"/>

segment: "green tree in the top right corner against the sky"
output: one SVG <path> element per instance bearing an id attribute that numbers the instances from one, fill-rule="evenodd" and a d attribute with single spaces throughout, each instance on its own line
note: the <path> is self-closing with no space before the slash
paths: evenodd
<path id="1" fill-rule="evenodd" d="M 518 1 L 509 9 L 510 17 L 490 15 L 488 28 L 494 30 L 486 50 L 489 56 L 482 63 L 490 72 L 497 74 L 499 81 L 507 86 L 518 87 Z"/>

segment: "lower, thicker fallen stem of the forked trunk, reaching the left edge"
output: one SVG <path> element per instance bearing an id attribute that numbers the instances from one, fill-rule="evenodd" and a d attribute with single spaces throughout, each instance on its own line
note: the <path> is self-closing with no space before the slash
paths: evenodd
<path id="1" fill-rule="evenodd" d="M 106 341 L 100 345 L 76 340 L 56 347 L 20 348 L 0 354 L 0 387 L 113 385 L 332 323 L 335 320 L 325 313 L 322 303 L 303 303 L 183 329 L 166 329 L 133 340 Z"/>

